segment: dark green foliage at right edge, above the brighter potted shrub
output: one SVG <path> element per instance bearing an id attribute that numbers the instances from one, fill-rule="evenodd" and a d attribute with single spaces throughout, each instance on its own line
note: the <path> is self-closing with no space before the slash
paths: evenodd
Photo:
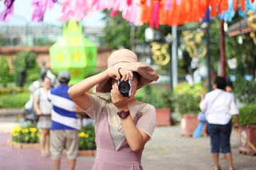
<path id="1" fill-rule="evenodd" d="M 242 103 L 256 102 L 256 81 L 247 81 L 243 77 L 237 77 L 234 87 L 235 96 Z"/>

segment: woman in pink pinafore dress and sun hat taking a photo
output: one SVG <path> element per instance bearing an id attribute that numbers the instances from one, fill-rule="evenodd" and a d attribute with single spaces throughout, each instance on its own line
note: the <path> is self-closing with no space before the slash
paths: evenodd
<path id="1" fill-rule="evenodd" d="M 134 52 L 122 49 L 110 55 L 108 69 L 70 87 L 70 98 L 85 110 L 95 123 L 97 156 L 92 169 L 142 169 L 144 145 L 156 124 L 154 106 L 134 99 L 137 89 L 159 79 L 154 69 L 137 62 Z M 124 97 L 118 80 L 131 79 L 132 93 Z M 111 93 L 111 100 L 86 92 Z"/>

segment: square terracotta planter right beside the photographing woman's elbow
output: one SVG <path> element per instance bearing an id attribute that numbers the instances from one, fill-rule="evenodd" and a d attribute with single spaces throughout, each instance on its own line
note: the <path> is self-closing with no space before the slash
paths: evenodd
<path id="1" fill-rule="evenodd" d="M 171 125 L 171 108 L 156 108 L 156 126 Z"/>

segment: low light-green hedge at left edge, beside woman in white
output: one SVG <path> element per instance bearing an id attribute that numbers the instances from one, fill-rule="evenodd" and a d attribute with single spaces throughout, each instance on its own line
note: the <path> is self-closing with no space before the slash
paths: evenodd
<path id="1" fill-rule="evenodd" d="M 29 98 L 28 92 L 16 94 L 14 91 L 13 94 L 1 95 L 0 108 L 23 108 Z"/>

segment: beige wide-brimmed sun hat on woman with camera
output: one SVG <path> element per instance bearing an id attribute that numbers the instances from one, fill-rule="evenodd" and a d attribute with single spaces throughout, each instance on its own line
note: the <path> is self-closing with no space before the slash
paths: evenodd
<path id="1" fill-rule="evenodd" d="M 147 64 L 138 62 L 137 55 L 127 49 L 117 50 L 110 55 L 107 60 L 107 68 L 110 67 L 117 69 L 124 68 L 132 72 L 137 72 L 141 76 L 137 84 L 137 89 L 159 79 L 159 76 L 156 74 L 154 69 Z M 108 81 L 109 80 L 107 79 L 97 84 L 96 91 L 100 93 L 109 93 L 112 86 Z"/>

